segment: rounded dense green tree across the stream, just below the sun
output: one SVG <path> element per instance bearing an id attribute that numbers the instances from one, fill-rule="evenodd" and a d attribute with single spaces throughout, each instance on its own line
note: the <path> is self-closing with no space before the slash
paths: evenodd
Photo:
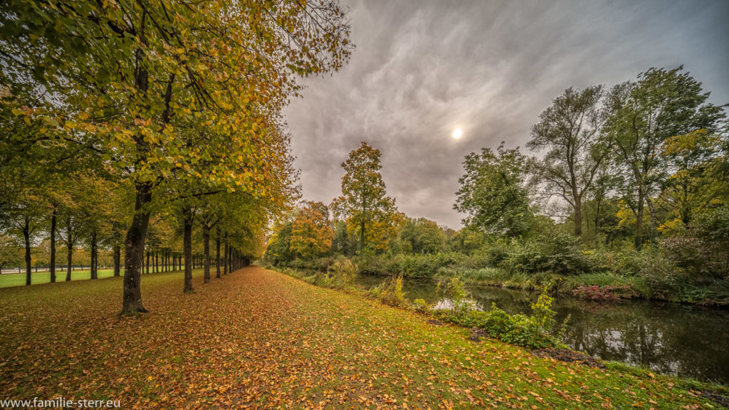
<path id="1" fill-rule="evenodd" d="M 453 209 L 468 214 L 463 223 L 484 233 L 517 237 L 531 227 L 533 211 L 525 186 L 526 158 L 502 142 L 496 152 L 483 148 L 464 161 Z"/>

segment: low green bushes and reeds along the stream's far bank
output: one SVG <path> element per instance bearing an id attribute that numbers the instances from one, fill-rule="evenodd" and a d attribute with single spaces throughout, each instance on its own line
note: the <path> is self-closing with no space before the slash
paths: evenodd
<path id="1" fill-rule="evenodd" d="M 571 295 L 588 301 L 615 301 L 642 299 L 687 303 L 699 306 L 729 307 L 729 283 L 725 279 L 690 281 L 687 277 L 641 274 L 666 266 L 666 259 L 658 252 L 627 252 L 617 255 L 606 252 L 582 252 L 580 258 L 595 263 L 600 270 L 579 274 L 554 274 L 550 271 L 529 272 L 523 268 L 515 251 L 503 248 L 486 250 L 473 255 L 459 252 L 411 255 L 364 255 L 351 258 L 330 257 L 316 260 L 292 260 L 280 263 L 281 268 L 327 271 L 337 260 L 351 260 L 358 274 L 402 276 L 413 279 L 448 281 L 457 278 L 466 285 L 504 287 L 539 291 L 553 283 L 552 294 Z M 553 258 L 559 258 L 555 255 Z M 618 259 L 622 257 L 623 259 Z M 497 265 L 493 266 L 496 261 Z M 529 263 L 529 262 L 527 262 Z M 557 261 L 564 263 L 564 261 Z M 273 265 L 272 265 L 273 266 Z M 670 266 L 670 265 L 669 265 Z M 669 267 L 670 268 L 670 267 Z M 625 274 L 620 274 L 625 271 Z M 634 273 L 637 272 L 637 273 Z"/>

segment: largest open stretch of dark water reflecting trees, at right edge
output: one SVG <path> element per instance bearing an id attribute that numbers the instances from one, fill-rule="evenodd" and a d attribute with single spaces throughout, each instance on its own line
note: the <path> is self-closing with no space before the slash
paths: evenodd
<path id="1" fill-rule="evenodd" d="M 574 349 L 661 373 L 729 380 L 726 312 L 644 302 L 588 312 L 580 309 L 585 302 L 561 302 L 561 315 L 572 314 L 566 343 Z"/>

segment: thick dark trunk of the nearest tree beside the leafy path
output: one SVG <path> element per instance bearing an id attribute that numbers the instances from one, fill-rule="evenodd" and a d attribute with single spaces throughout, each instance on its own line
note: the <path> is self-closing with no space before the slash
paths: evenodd
<path id="1" fill-rule="evenodd" d="M 152 186 L 149 182 L 141 182 L 136 186 L 132 223 L 124 242 L 124 293 L 122 296 L 122 314 L 147 312 L 141 303 L 141 271 L 144 258 L 144 239 L 149 228 L 149 210 L 152 202 Z"/>

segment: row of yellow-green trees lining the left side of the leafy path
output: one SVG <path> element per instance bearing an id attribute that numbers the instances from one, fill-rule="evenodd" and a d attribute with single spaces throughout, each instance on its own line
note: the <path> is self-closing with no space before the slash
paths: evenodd
<path id="1" fill-rule="evenodd" d="M 233 255 L 255 255 L 296 198 L 281 109 L 297 77 L 346 62 L 348 34 L 332 0 L 13 3 L 0 15 L 3 220 L 30 231 L 21 215 L 38 206 L 53 237 L 47 188 L 107 184 L 74 217 L 90 215 L 98 240 L 117 222 L 98 216 L 103 205 L 121 216 L 122 313 L 146 312 L 140 268 L 156 217 L 182 231 L 192 291 L 193 225 L 206 254 L 214 232 Z"/>

